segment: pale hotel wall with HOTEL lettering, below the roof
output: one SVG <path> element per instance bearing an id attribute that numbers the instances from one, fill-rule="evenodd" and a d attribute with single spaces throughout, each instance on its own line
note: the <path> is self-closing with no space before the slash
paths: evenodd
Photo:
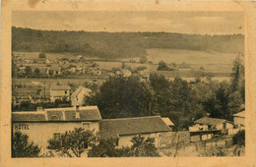
<path id="1" fill-rule="evenodd" d="M 65 133 L 66 131 L 73 131 L 74 128 L 82 127 L 82 122 L 55 122 L 55 123 L 14 123 L 13 132 L 21 131 L 29 136 L 29 139 L 41 146 L 41 152 L 46 152 L 47 140 L 53 137 L 54 133 Z M 99 131 L 98 122 L 91 122 L 90 130 Z"/>

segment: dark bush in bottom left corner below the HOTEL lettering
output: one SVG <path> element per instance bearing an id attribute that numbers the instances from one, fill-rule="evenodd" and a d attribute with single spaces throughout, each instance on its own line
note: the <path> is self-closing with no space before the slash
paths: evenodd
<path id="1" fill-rule="evenodd" d="M 40 148 L 29 141 L 29 136 L 16 132 L 12 143 L 12 157 L 38 157 Z"/>

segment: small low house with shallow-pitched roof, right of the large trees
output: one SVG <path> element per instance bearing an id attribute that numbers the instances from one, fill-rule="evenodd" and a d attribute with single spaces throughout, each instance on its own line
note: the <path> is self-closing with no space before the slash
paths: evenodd
<path id="1" fill-rule="evenodd" d="M 233 129 L 233 123 L 230 121 L 219 119 L 219 118 L 209 118 L 203 117 L 194 122 L 193 127 L 189 127 L 190 132 L 198 132 L 198 131 L 214 131 L 221 130 L 225 131 L 228 129 Z"/>

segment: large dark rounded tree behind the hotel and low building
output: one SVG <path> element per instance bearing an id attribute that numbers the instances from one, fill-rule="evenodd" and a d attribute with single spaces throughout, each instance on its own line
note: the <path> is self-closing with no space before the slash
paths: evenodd
<path id="1" fill-rule="evenodd" d="M 97 105 L 102 118 L 138 117 L 149 113 L 153 94 L 138 77 L 110 77 L 85 105 Z"/>

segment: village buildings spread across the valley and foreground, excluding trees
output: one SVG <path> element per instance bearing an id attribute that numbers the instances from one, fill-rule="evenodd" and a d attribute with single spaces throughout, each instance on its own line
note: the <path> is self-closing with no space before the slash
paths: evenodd
<path id="1" fill-rule="evenodd" d="M 18 69 L 17 73 L 25 76 L 28 73 L 28 68 L 34 72 L 35 76 L 36 73 L 37 75 L 40 73 L 42 78 L 43 76 L 54 77 L 67 72 L 73 75 L 89 76 L 100 76 L 104 73 L 96 66 L 96 63 L 90 63 L 90 61 L 82 63 L 81 56 L 78 56 L 77 62 L 74 61 L 73 64 L 66 59 L 50 62 L 45 55 L 41 54 L 35 60 L 19 58 L 14 60 Z M 128 78 L 133 75 L 130 71 L 123 70 L 108 77 L 110 76 Z M 144 83 L 149 81 L 149 76 L 139 77 Z M 53 79 L 48 78 L 47 80 Z M 95 84 L 100 86 L 103 82 L 101 81 L 99 85 Z M 224 147 L 226 156 L 244 154 L 244 147 L 234 147 L 232 137 L 245 130 L 245 110 L 233 114 L 233 121 L 211 118 L 210 113 L 207 113 L 204 117 L 194 120 L 193 125 L 188 129 L 183 130 L 177 129 L 171 117 L 161 117 L 160 114 L 102 119 L 97 106 L 85 106 L 86 98 L 90 98 L 98 91 L 98 87 L 92 89 L 94 88 L 92 84 L 94 81 L 91 79 L 91 83 L 88 84 L 32 82 L 27 85 L 21 83 L 13 85 L 13 133 L 22 132 L 28 135 L 34 143 L 41 147 L 40 154 L 47 156 L 51 152 L 47 149 L 48 140 L 72 131 L 74 128 L 92 131 L 101 139 L 115 139 L 117 148 L 131 146 L 131 140 L 136 136 L 153 138 L 160 156 L 204 156 L 202 151 L 213 149 L 213 147 L 215 149 Z M 26 105 L 28 106 L 26 107 Z M 19 112 L 14 112 L 16 110 Z M 37 131 L 38 128 L 40 131 Z M 176 147 L 179 148 L 178 155 Z M 90 147 L 87 147 L 85 152 L 88 150 Z M 187 150 L 189 150 L 189 154 Z M 51 155 L 53 156 L 53 154 Z M 83 156 L 88 155 L 84 153 Z"/>

